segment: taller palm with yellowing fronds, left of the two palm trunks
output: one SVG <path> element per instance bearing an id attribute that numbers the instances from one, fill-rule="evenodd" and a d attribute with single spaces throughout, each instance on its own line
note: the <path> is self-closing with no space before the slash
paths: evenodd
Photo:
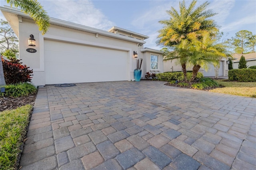
<path id="1" fill-rule="evenodd" d="M 188 57 L 185 57 L 186 53 L 184 53 L 184 49 L 186 48 L 184 45 L 181 45 L 182 49 L 179 49 L 179 45 L 184 43 L 184 41 L 189 41 L 189 36 L 195 36 L 200 39 L 200 31 L 202 30 L 211 32 L 218 28 L 216 22 L 210 19 L 210 17 L 215 16 L 216 13 L 212 10 L 206 10 L 209 3 L 204 2 L 195 8 L 196 2 L 196 0 L 193 0 L 188 8 L 186 8 L 186 3 L 183 0 L 180 2 L 179 12 L 172 7 L 171 10 L 166 11 L 170 15 L 170 19 L 159 21 L 164 27 L 158 31 L 159 35 L 156 43 L 157 45 L 176 50 L 177 53 L 183 51 L 182 55 L 178 55 L 177 57 L 182 57 L 178 61 L 180 61 L 180 65 L 182 66 L 185 79 L 187 61 L 184 60 Z M 166 59 L 177 59 L 177 57 L 173 57 L 172 51 L 169 53 L 170 57 Z"/>

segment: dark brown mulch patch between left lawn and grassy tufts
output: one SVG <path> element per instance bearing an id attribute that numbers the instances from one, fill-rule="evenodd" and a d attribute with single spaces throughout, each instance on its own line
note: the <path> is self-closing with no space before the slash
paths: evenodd
<path id="1" fill-rule="evenodd" d="M 34 106 L 36 100 L 36 94 L 30 94 L 22 97 L 0 97 L 0 112 L 5 110 L 16 109 L 24 105 Z"/>

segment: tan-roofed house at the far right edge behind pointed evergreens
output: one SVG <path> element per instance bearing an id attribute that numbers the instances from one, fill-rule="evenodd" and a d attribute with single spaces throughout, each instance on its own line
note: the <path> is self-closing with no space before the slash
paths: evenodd
<path id="1" fill-rule="evenodd" d="M 256 65 L 256 53 L 248 53 L 248 54 L 238 54 L 238 53 L 234 53 L 232 55 L 233 57 L 233 69 L 238 69 L 238 63 L 240 61 L 240 58 L 242 57 L 242 55 L 244 56 L 245 60 L 247 61 L 247 66 L 253 66 Z M 247 67 L 247 68 L 248 68 Z"/>

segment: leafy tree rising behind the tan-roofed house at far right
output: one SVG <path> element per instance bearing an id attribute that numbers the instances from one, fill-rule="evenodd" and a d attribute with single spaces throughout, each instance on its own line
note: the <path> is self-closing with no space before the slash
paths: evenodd
<path id="1" fill-rule="evenodd" d="M 231 45 L 234 47 L 235 53 L 246 53 L 248 52 L 249 40 L 252 38 L 252 32 L 247 30 L 241 30 L 236 33 L 235 37 L 228 39 Z"/>

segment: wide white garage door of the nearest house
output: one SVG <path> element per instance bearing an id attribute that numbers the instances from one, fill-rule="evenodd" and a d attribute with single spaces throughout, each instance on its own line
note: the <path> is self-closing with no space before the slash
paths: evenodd
<path id="1" fill-rule="evenodd" d="M 128 52 L 44 40 L 46 84 L 128 80 Z"/>

